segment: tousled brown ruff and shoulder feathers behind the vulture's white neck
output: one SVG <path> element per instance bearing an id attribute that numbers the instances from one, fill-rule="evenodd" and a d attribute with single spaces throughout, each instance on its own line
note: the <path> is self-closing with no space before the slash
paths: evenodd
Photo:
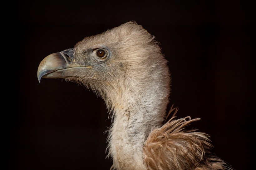
<path id="1" fill-rule="evenodd" d="M 185 130 L 191 122 L 200 119 L 191 119 L 189 116 L 175 120 L 172 118 L 162 127 L 153 130 L 143 147 L 145 165 L 148 170 L 168 169 L 232 169 L 226 162 L 212 154 L 209 150 L 209 135 L 195 130 Z M 170 112 L 169 112 L 170 114 Z"/>

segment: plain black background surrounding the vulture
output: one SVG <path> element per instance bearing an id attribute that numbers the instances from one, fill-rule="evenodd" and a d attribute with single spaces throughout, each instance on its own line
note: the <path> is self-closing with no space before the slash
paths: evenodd
<path id="1" fill-rule="evenodd" d="M 132 20 L 155 35 L 169 61 L 172 91 L 167 109 L 175 104 L 178 118 L 201 118 L 190 128 L 211 136 L 214 153 L 235 169 L 253 169 L 254 4 L 219 0 L 11 5 L 14 18 L 6 25 L 14 30 L 3 33 L 11 37 L 5 45 L 11 49 L 2 57 L 13 71 L 6 83 L 12 93 L 3 102 L 8 169 L 111 167 L 111 159 L 105 159 L 104 133 L 111 120 L 102 99 L 61 79 L 39 83 L 37 68 L 47 55 Z"/>

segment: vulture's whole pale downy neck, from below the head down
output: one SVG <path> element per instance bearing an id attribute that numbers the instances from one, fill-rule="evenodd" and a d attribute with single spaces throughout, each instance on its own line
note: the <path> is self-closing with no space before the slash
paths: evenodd
<path id="1" fill-rule="evenodd" d="M 162 125 L 168 103 L 170 80 L 168 75 L 160 76 L 164 74 L 163 70 L 151 70 L 151 75 L 140 78 L 140 81 L 128 78 L 125 81 L 134 82 L 130 87 L 120 81 L 119 85 L 125 87 L 107 92 L 107 101 L 113 111 L 108 149 L 114 168 L 145 169 L 142 150 L 145 140 L 151 130 Z M 165 73 L 169 72 L 165 70 Z"/>

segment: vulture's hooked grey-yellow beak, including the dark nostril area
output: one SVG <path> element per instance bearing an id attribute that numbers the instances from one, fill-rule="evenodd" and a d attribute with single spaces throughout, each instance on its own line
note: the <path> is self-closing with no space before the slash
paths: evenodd
<path id="1" fill-rule="evenodd" d="M 92 78 L 94 71 L 91 67 L 80 65 L 74 61 L 74 49 L 53 53 L 44 58 L 39 64 L 37 78 Z"/>

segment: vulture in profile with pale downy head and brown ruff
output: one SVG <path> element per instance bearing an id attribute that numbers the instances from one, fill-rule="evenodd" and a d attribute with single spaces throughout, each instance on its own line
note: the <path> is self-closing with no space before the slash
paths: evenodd
<path id="1" fill-rule="evenodd" d="M 233 169 L 212 153 L 209 135 L 187 129 L 199 118 L 177 119 L 176 107 L 167 112 L 167 60 L 155 36 L 135 21 L 48 55 L 37 78 L 39 83 L 41 78 L 64 78 L 103 98 L 112 117 L 106 148 L 110 169 Z"/>

